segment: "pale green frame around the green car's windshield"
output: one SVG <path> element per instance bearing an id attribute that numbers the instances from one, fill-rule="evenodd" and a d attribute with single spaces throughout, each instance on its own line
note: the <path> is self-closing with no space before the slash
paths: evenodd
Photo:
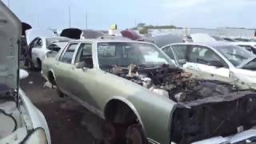
<path id="1" fill-rule="evenodd" d="M 100 62 L 99 62 L 99 58 L 98 58 L 98 45 L 100 43 L 130 43 L 130 44 L 143 44 L 143 45 L 149 45 L 149 46 L 153 46 L 154 47 L 154 50 L 158 51 L 158 53 L 162 54 L 162 56 L 164 56 L 164 58 L 166 59 L 166 61 L 169 63 L 169 66 L 170 67 L 178 67 L 174 62 L 171 61 L 171 59 L 162 51 L 160 50 L 160 48 L 156 45 L 154 45 L 153 43 L 150 43 L 150 42 L 123 42 L 123 41 L 102 41 L 102 42 L 96 42 L 95 43 L 95 47 L 96 49 L 95 50 L 95 58 L 97 59 L 97 64 L 98 64 L 98 68 L 101 69 L 101 70 L 104 70 L 104 68 L 102 69 L 102 67 L 100 66 Z M 113 64 L 114 66 L 114 64 Z M 160 66 L 160 65 L 159 65 Z M 127 66 L 128 67 L 128 66 Z"/>

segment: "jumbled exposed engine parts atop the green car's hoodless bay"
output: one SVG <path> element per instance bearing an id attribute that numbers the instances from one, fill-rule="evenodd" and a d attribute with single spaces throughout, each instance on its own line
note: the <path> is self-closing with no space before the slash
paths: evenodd
<path id="1" fill-rule="evenodd" d="M 128 68 L 114 66 L 111 73 L 129 79 L 156 94 L 172 99 L 174 102 L 190 102 L 222 94 L 237 89 L 227 83 L 191 78 L 192 74 L 178 68 L 142 68 L 131 64 Z"/>

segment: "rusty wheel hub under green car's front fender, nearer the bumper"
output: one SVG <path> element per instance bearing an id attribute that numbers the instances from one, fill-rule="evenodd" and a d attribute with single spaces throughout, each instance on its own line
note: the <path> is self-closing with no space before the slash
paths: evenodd
<path id="1" fill-rule="evenodd" d="M 147 144 L 145 134 L 143 133 L 142 126 L 134 124 L 126 130 L 126 144 Z"/>

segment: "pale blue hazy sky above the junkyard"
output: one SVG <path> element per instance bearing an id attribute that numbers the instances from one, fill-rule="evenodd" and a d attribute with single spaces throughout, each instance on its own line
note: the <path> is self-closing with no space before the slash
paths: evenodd
<path id="1" fill-rule="evenodd" d="M 8 0 L 2 0 L 8 5 Z M 10 9 L 33 27 L 108 30 L 149 25 L 256 28 L 256 0 L 9 0 Z"/>

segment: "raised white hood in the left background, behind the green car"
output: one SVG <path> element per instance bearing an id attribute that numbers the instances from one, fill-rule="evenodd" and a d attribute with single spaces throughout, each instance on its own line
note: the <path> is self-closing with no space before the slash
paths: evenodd
<path id="1" fill-rule="evenodd" d="M 45 37 L 45 38 L 52 38 L 55 34 L 51 30 L 42 30 L 42 29 L 30 29 L 26 30 L 26 42 L 29 45 L 34 38 L 37 37 Z"/>

